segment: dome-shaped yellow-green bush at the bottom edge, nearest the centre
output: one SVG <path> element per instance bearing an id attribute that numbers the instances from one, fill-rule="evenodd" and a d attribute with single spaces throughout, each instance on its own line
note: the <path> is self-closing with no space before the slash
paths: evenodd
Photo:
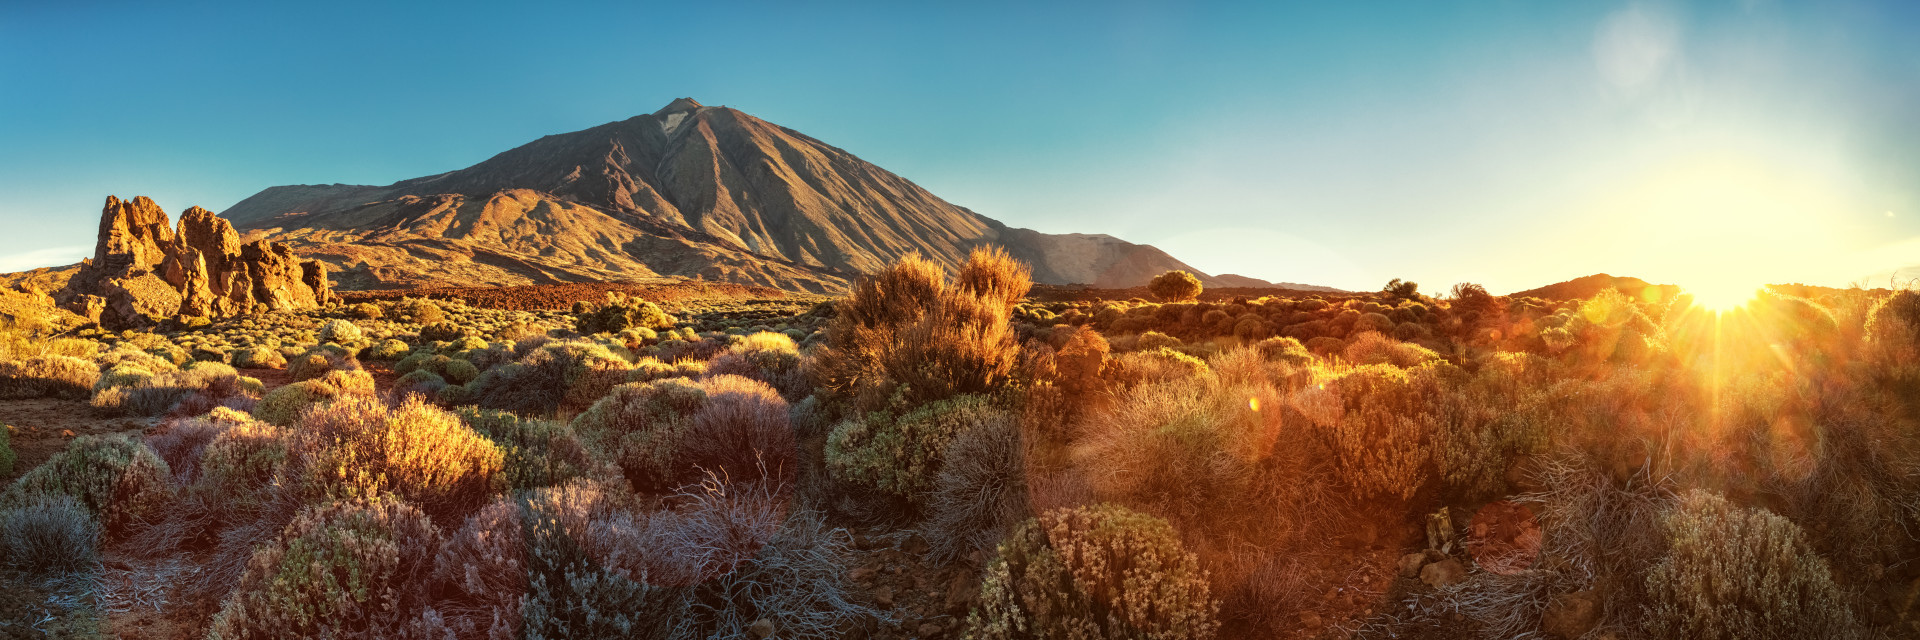
<path id="1" fill-rule="evenodd" d="M 966 638 L 1213 638 L 1219 603 L 1165 521 L 1054 509 L 1000 542 Z"/>

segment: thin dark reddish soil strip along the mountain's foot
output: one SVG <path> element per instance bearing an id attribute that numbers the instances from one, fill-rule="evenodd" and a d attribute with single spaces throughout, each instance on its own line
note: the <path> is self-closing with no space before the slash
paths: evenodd
<path id="1" fill-rule="evenodd" d="M 348 304 L 384 302 L 399 298 L 461 300 L 467 306 L 484 309 L 568 309 L 574 302 L 607 302 L 609 292 L 639 296 L 651 302 L 676 300 L 716 300 L 716 298 L 787 298 L 789 294 L 768 286 L 733 283 L 674 283 L 674 284 L 622 284 L 622 283 L 576 283 L 576 284 L 522 284 L 522 286 L 480 286 L 480 288 L 397 288 L 397 290 L 344 290 L 340 298 Z"/>

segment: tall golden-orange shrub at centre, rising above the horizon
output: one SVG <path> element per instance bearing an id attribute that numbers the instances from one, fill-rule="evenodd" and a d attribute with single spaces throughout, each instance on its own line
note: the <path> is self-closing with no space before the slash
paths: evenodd
<path id="1" fill-rule="evenodd" d="M 835 308 L 816 354 L 820 386 L 862 411 L 897 390 L 908 404 L 991 392 L 1014 367 L 1008 317 L 1031 284 L 1029 269 L 998 248 L 973 250 L 952 284 L 939 265 L 900 258 Z"/>

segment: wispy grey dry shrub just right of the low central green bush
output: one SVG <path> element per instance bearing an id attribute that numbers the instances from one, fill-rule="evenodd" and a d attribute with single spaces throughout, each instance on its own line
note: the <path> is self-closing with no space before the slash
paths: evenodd
<path id="1" fill-rule="evenodd" d="M 927 498 L 925 534 L 933 555 L 960 559 L 975 550 L 993 552 L 1029 515 L 1020 425 L 1000 413 L 964 427 L 943 459 Z"/>

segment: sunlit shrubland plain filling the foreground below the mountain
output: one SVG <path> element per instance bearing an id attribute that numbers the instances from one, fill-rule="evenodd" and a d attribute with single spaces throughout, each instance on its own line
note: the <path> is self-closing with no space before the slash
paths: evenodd
<path id="1" fill-rule="evenodd" d="M 15 469 L 0 565 L 188 559 L 219 638 L 1920 632 L 1910 290 L 1052 296 L 979 250 L 839 300 L 6 325 L 0 398 L 132 427 Z"/>

